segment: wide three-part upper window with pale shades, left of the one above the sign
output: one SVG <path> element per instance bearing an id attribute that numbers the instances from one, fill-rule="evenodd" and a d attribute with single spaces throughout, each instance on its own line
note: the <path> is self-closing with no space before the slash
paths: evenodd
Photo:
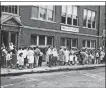
<path id="1" fill-rule="evenodd" d="M 54 6 L 52 5 L 32 6 L 31 18 L 53 21 L 54 20 Z"/>

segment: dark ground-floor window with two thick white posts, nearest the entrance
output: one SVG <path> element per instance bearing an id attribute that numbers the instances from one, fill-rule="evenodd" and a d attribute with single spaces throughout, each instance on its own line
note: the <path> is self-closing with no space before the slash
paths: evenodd
<path id="1" fill-rule="evenodd" d="M 43 46 L 48 46 L 52 45 L 53 46 L 53 36 L 45 36 L 45 35 L 31 35 L 31 45 L 43 45 Z"/>

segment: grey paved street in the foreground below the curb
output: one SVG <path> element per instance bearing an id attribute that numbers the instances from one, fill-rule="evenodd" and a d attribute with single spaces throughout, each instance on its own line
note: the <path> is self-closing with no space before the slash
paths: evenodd
<path id="1" fill-rule="evenodd" d="M 1 77 L 2 88 L 105 88 L 105 67 Z"/>

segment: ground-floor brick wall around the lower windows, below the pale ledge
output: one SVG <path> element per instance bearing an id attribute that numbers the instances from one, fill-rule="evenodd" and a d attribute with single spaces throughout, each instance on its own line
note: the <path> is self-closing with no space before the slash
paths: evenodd
<path id="1" fill-rule="evenodd" d="M 19 47 L 31 45 L 30 44 L 31 43 L 31 34 L 53 36 L 54 37 L 53 46 L 56 47 L 57 49 L 59 49 L 59 47 L 60 47 L 60 38 L 61 37 L 78 39 L 78 48 L 79 49 L 82 48 L 83 40 L 95 40 L 96 41 L 96 49 L 98 48 L 98 46 L 97 46 L 98 38 L 97 37 L 89 37 L 89 36 L 82 36 L 82 35 L 69 34 L 69 33 L 68 34 L 67 33 L 59 33 L 59 32 L 52 32 L 52 31 L 42 31 L 42 30 L 27 29 L 27 28 L 24 28 L 21 30 L 21 34 L 19 37 Z"/>

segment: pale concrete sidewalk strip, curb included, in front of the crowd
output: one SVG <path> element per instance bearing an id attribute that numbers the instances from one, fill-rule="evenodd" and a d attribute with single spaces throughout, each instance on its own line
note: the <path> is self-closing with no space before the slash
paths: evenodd
<path id="1" fill-rule="evenodd" d="M 42 66 L 33 69 L 23 69 L 23 70 L 10 69 L 10 72 L 8 72 L 6 68 L 1 68 L 1 76 L 56 72 L 56 71 L 65 71 L 65 70 L 84 70 L 84 69 L 93 69 L 96 67 L 105 67 L 105 64 L 73 65 L 73 66 L 68 65 L 68 66 L 56 66 L 56 67 Z"/>

